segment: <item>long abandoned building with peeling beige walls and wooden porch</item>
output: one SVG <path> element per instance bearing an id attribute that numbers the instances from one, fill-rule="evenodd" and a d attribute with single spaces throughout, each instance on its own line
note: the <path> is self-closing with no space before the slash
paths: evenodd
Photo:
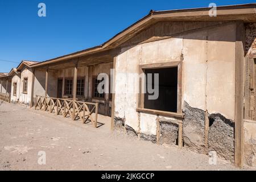
<path id="1" fill-rule="evenodd" d="M 150 11 L 101 46 L 22 61 L 0 76 L 1 94 L 94 126 L 97 113 L 109 115 L 112 131 L 256 166 L 255 9 Z M 111 69 L 112 93 L 99 93 L 97 76 Z M 128 73 L 158 73 L 158 99 Z"/>

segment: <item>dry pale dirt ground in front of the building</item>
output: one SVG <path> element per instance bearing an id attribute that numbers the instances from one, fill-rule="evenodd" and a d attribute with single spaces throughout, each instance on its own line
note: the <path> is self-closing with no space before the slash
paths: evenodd
<path id="1" fill-rule="evenodd" d="M 0 170 L 236 170 L 207 155 L 158 146 L 110 133 L 110 118 L 97 129 L 61 115 L 0 102 Z M 40 165 L 40 151 L 46 164 Z M 250 168 L 246 168 L 250 169 Z"/>

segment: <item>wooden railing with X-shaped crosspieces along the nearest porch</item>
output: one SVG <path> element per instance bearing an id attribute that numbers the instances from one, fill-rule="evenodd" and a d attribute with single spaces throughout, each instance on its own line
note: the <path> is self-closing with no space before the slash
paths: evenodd
<path id="1" fill-rule="evenodd" d="M 93 126 L 97 127 L 98 103 L 36 96 L 35 109 L 63 115 L 65 118 L 72 118 L 73 121 L 81 119 L 82 123 L 92 122 Z"/>

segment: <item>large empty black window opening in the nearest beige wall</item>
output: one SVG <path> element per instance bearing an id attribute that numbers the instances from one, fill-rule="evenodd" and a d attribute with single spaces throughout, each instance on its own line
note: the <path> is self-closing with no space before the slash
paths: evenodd
<path id="1" fill-rule="evenodd" d="M 148 100 L 148 90 L 144 94 L 144 108 L 160 111 L 177 112 L 177 67 L 145 69 L 146 85 L 148 84 L 147 74 L 152 74 L 152 85 L 154 88 L 154 74 L 159 74 L 159 97 L 156 100 Z M 154 94 L 154 93 L 153 93 Z"/>

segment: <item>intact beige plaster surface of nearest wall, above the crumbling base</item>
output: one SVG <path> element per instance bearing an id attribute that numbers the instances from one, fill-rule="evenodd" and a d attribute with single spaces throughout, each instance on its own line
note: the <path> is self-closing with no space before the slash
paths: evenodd
<path id="1" fill-rule="evenodd" d="M 139 64 L 180 61 L 183 54 L 182 100 L 234 121 L 235 40 L 235 24 L 229 23 L 123 48 L 115 68 L 115 117 L 125 118 L 135 131 L 155 134 L 155 124 L 145 127 L 155 121 L 155 115 L 142 114 L 138 122 L 137 94 L 126 92 L 139 83 L 129 80 L 126 73 L 138 73 Z"/>

